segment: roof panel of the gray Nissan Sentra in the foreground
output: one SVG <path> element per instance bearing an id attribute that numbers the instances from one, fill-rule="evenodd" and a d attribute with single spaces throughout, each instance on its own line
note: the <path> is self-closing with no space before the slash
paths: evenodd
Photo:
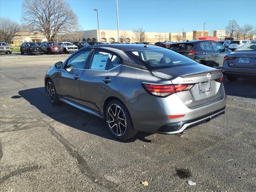
<path id="1" fill-rule="evenodd" d="M 102 44 L 102 45 L 92 45 L 90 46 L 95 48 L 116 48 L 123 51 L 129 51 L 129 50 L 143 50 L 143 49 L 163 49 L 158 46 L 154 45 L 144 45 L 144 44 Z M 87 46 L 88 48 L 88 46 Z"/>

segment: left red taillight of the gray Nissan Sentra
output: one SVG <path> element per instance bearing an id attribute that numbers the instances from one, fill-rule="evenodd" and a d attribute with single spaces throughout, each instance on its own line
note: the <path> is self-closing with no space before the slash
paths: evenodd
<path id="1" fill-rule="evenodd" d="M 166 84 L 142 84 L 143 88 L 150 95 L 157 97 L 167 97 L 171 94 L 181 91 L 187 91 L 194 86 L 194 84 L 176 84 L 176 85 L 166 85 Z"/>

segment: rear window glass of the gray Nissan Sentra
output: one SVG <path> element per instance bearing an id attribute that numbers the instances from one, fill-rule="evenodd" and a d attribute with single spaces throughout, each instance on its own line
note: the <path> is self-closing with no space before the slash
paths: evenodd
<path id="1" fill-rule="evenodd" d="M 168 49 L 132 50 L 129 52 L 149 69 L 197 64 L 190 58 Z"/>

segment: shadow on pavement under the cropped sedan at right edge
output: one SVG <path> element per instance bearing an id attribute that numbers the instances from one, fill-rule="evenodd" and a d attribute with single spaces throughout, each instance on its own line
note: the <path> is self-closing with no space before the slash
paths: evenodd
<path id="1" fill-rule="evenodd" d="M 227 95 L 256 98 L 256 79 L 238 78 L 236 81 L 229 81 L 224 76 L 224 88 Z"/>

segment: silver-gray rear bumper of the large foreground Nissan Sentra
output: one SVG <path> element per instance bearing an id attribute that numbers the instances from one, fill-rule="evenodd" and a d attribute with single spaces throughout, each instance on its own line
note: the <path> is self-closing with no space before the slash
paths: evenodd
<path id="1" fill-rule="evenodd" d="M 188 126 L 201 121 L 208 121 L 217 114 L 224 112 L 226 106 L 226 94 L 224 88 L 220 96 L 199 107 L 188 108 L 177 94 L 172 94 L 166 98 L 158 98 L 149 94 L 144 94 L 125 103 L 134 128 L 143 132 L 163 132 L 165 134 L 175 134 L 182 132 Z M 221 111 L 219 111 L 221 110 Z M 169 118 L 170 115 L 184 114 L 180 118 Z M 205 117 L 205 115 L 208 116 Z M 176 126 L 173 130 L 161 130 L 160 128 Z"/>

